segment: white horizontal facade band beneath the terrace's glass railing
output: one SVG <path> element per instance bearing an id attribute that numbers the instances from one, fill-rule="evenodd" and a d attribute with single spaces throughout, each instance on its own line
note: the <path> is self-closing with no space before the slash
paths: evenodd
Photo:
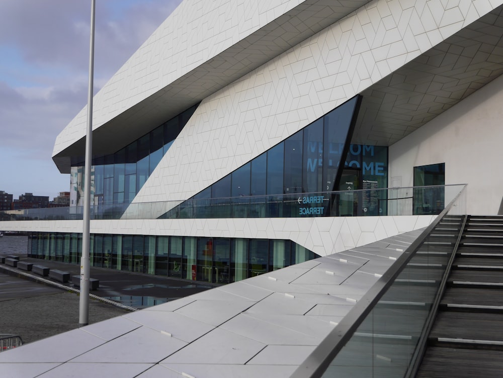
<path id="1" fill-rule="evenodd" d="M 435 215 L 318 218 L 115 219 L 91 221 L 91 234 L 291 240 L 320 256 L 346 251 L 430 224 Z M 81 220 L 2 222 L 4 230 L 81 233 Z M 364 230 L 362 231 L 362 226 Z"/>

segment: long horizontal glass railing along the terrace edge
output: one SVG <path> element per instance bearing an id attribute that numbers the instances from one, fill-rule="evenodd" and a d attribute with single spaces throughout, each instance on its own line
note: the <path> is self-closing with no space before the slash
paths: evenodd
<path id="1" fill-rule="evenodd" d="M 464 188 L 437 185 L 163 202 L 99 204 L 91 219 L 276 218 L 439 214 Z M 0 221 L 78 220 L 83 207 L 9 210 Z"/>

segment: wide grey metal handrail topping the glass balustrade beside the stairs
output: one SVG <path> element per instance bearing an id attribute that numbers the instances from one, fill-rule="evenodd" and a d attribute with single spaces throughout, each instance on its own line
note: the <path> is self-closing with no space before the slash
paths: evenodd
<path id="1" fill-rule="evenodd" d="M 353 334 L 374 309 L 388 288 L 412 259 L 426 238 L 454 206 L 464 192 L 466 185 L 445 207 L 436 219 L 417 237 L 402 253 L 393 265 L 379 278 L 369 291 L 358 301 L 339 324 L 321 341 L 316 349 L 299 365 L 291 375 L 292 378 L 319 378 L 337 356 Z"/>

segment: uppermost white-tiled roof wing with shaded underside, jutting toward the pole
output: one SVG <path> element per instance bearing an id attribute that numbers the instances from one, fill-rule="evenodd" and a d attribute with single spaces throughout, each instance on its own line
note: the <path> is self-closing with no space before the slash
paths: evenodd
<path id="1" fill-rule="evenodd" d="M 95 156 L 116 152 L 369 0 L 218 3 L 183 2 L 95 96 Z M 57 137 L 61 173 L 85 154 L 86 114 L 87 107 Z"/>

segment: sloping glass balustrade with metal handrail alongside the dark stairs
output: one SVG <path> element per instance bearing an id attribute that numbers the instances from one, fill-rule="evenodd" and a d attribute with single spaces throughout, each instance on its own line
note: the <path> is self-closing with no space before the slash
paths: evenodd
<path id="1" fill-rule="evenodd" d="M 450 201 L 292 377 L 415 376 L 463 230 L 464 194 Z"/>

